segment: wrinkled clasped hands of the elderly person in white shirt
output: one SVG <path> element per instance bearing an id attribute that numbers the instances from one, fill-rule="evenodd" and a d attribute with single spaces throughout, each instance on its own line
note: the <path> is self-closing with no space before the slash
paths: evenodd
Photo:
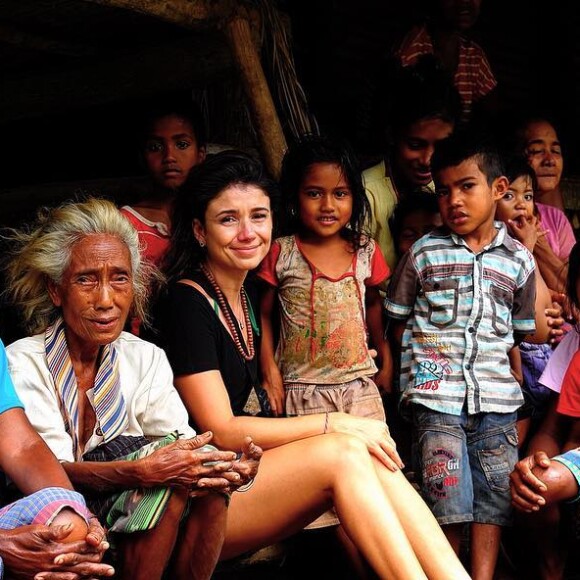
<path id="1" fill-rule="evenodd" d="M 140 459 L 143 484 L 185 487 L 195 495 L 205 491 L 227 493 L 230 486 L 240 485 L 242 478 L 233 469 L 236 453 L 205 447 L 212 437 L 207 431 L 180 439 Z"/>

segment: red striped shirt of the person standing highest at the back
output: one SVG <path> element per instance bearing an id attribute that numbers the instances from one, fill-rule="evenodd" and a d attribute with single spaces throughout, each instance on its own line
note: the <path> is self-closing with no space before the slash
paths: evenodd
<path id="1" fill-rule="evenodd" d="M 433 54 L 433 41 L 427 27 L 423 25 L 412 28 L 396 54 L 403 66 L 414 64 L 423 54 Z M 469 120 L 473 104 L 497 85 L 485 52 L 477 43 L 465 37 L 461 38 L 459 63 L 453 81 L 461 96 L 461 120 L 464 122 Z"/>

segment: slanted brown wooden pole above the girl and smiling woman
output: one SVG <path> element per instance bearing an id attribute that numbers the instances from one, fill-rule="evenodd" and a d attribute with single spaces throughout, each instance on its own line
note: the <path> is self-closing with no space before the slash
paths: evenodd
<path id="1" fill-rule="evenodd" d="M 225 32 L 248 96 L 266 168 L 273 177 L 278 178 L 286 151 L 286 139 L 252 39 L 248 18 L 243 14 L 230 18 L 225 23 Z"/>

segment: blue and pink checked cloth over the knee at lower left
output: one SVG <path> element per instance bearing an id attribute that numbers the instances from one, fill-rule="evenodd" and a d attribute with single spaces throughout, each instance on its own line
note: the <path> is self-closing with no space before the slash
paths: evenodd
<path id="1" fill-rule="evenodd" d="M 49 525 L 64 508 L 73 509 L 88 523 L 89 512 L 80 493 L 60 487 L 47 487 L 0 509 L 0 529 L 13 530 L 35 524 Z M 4 564 L 0 558 L 0 579 L 3 577 Z"/>

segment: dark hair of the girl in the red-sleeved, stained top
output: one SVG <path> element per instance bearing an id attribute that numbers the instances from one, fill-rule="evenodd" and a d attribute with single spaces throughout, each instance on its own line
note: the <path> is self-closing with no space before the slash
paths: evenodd
<path id="1" fill-rule="evenodd" d="M 280 187 L 285 206 L 284 233 L 293 234 L 302 227 L 298 192 L 308 169 L 318 163 L 340 167 L 352 193 L 352 214 L 341 235 L 355 250 L 365 246 L 368 239 L 363 230 L 370 216 L 370 205 L 356 155 L 346 141 L 317 135 L 305 135 L 295 141 L 282 160 Z"/>

